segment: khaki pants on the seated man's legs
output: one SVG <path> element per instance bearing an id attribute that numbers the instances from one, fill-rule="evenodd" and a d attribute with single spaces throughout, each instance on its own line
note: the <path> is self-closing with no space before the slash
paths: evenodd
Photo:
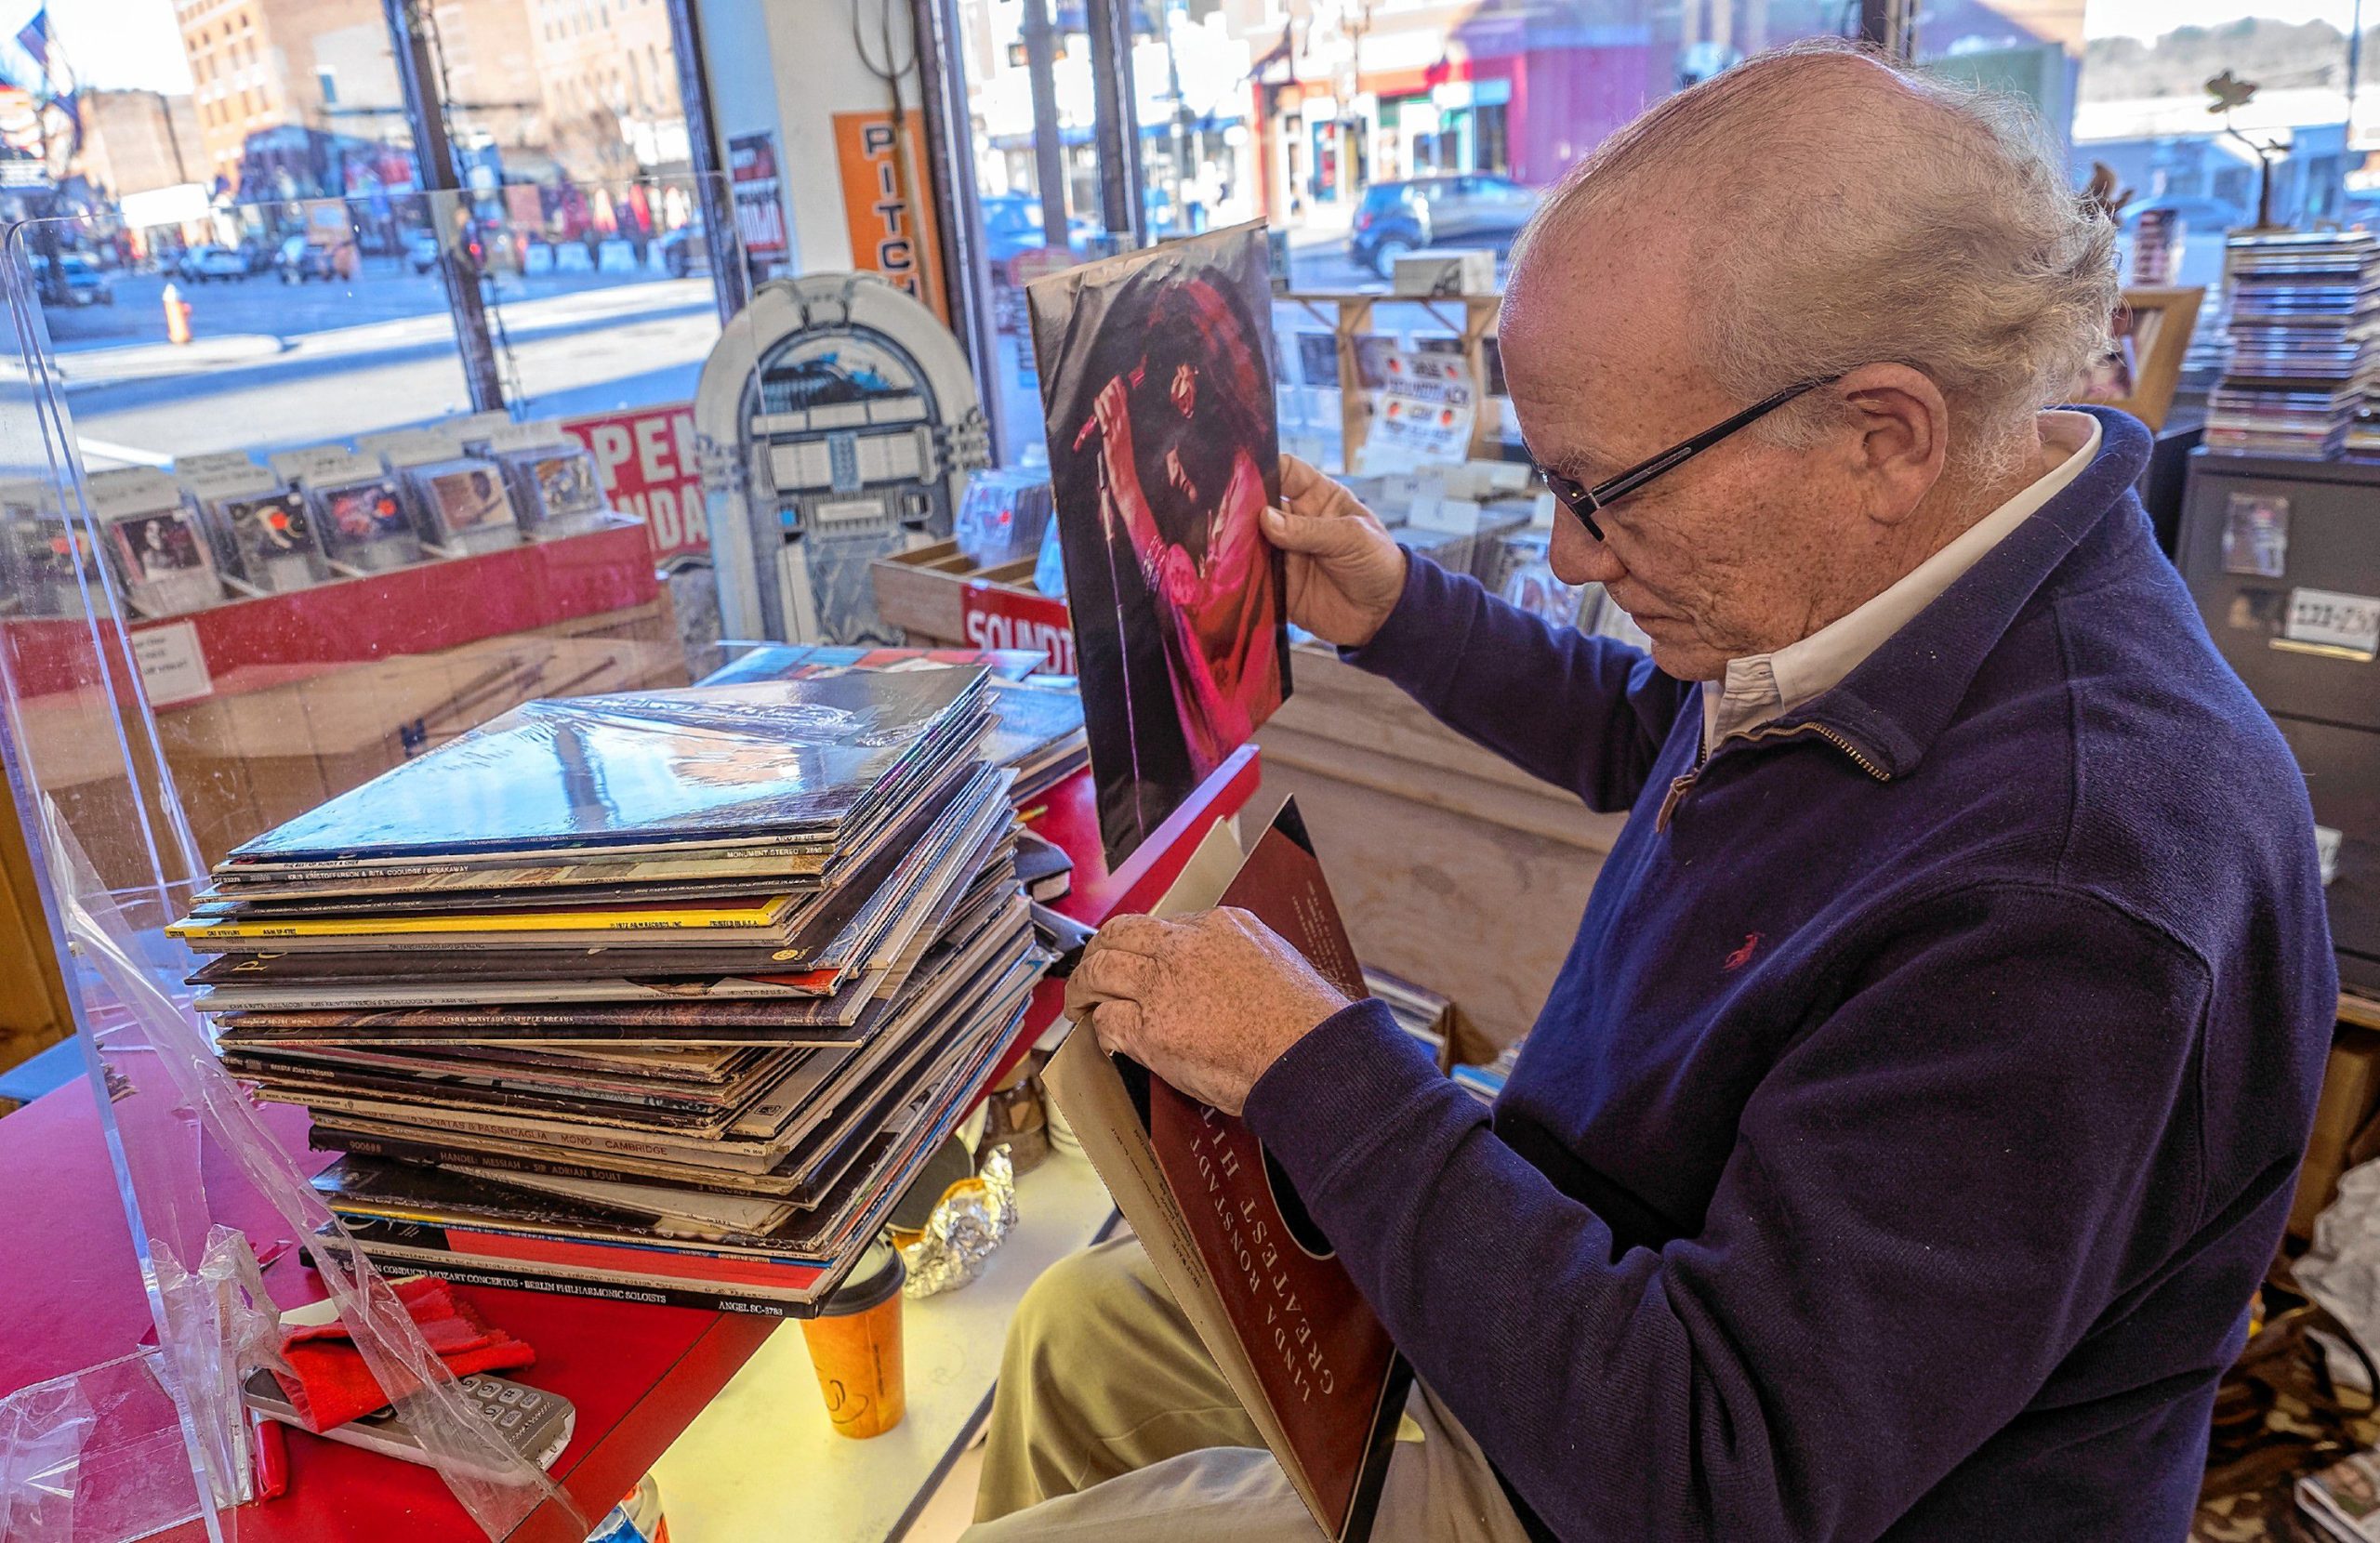
<path id="1" fill-rule="evenodd" d="M 1009 1324 L 969 1543 L 1209 1543 L 1319 1529 L 1133 1238 L 1059 1260 Z M 1414 1386 L 1376 1543 L 1523 1543 L 1488 1460 Z"/>

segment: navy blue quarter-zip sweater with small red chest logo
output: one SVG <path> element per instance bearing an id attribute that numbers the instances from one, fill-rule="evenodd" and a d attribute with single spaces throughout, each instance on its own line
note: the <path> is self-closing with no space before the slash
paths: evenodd
<path id="1" fill-rule="evenodd" d="M 1380 1002 L 1247 1100 L 1564 1538 L 2187 1531 L 2337 979 L 2304 781 L 2156 552 L 2147 431 L 2097 417 L 1699 772 L 1695 686 L 1426 560 L 1352 655 L 1630 810 L 1492 1122 Z"/>

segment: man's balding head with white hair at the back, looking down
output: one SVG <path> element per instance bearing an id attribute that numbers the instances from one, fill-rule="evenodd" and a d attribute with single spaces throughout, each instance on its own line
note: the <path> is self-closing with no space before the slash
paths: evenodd
<path id="1" fill-rule="evenodd" d="M 1602 505 L 1599 536 L 1557 521 L 1554 571 L 1680 679 L 1806 638 L 2063 460 L 2037 410 L 2113 305 L 2113 231 L 2021 110 L 1842 45 L 1737 64 L 1547 200 L 1504 379 L 1530 457 L 1583 486 L 1811 388 Z"/>

